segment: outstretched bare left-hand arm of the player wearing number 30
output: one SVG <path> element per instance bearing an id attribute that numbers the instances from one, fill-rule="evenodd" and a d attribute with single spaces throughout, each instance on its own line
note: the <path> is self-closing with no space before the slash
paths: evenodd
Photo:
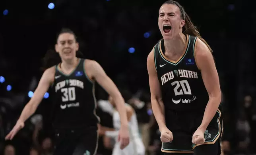
<path id="1" fill-rule="evenodd" d="M 41 77 L 37 89 L 34 92 L 33 97 L 26 104 L 21 112 L 21 115 L 12 129 L 12 131 L 6 136 L 6 140 L 12 140 L 15 134 L 24 127 L 24 122 L 35 113 L 39 103 L 42 101 L 43 96 L 47 92 L 48 88 L 54 81 L 55 68 L 51 67 L 45 70 L 43 76 Z"/>

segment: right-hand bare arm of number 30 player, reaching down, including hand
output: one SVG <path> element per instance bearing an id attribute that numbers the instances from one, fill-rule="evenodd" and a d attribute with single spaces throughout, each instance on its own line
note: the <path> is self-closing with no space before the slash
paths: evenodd
<path id="1" fill-rule="evenodd" d="M 122 141 L 120 144 L 121 149 L 129 144 L 129 132 L 128 132 L 128 121 L 126 116 L 126 108 L 124 104 L 124 98 L 118 91 L 114 82 L 107 76 L 103 68 L 98 62 L 94 60 L 85 60 L 85 68 L 88 71 L 88 76 L 91 79 L 95 79 L 109 95 L 112 96 L 114 103 L 116 104 L 116 109 L 120 115 L 121 128 L 120 128 L 120 138 Z"/>

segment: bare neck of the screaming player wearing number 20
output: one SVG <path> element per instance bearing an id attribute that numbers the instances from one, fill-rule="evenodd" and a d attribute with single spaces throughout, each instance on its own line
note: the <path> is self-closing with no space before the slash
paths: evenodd
<path id="1" fill-rule="evenodd" d="M 186 36 L 178 34 L 175 38 L 164 40 L 165 53 L 179 54 L 183 53 L 186 46 Z"/>

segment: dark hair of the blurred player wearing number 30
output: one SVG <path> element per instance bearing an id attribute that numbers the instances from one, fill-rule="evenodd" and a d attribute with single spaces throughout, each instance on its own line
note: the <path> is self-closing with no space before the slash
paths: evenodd
<path id="1" fill-rule="evenodd" d="M 69 28 L 62 28 L 60 32 L 57 34 L 57 40 L 60 34 L 63 34 L 63 33 L 73 34 L 75 39 L 77 39 L 76 35 L 72 30 L 70 30 Z M 76 57 L 83 58 L 83 53 L 81 53 L 81 51 L 76 51 Z M 43 58 L 43 66 L 41 70 L 45 71 L 47 68 L 50 68 L 56 64 L 59 64 L 60 62 L 61 62 L 60 55 L 56 51 L 49 49 L 46 52 L 45 57 Z"/>

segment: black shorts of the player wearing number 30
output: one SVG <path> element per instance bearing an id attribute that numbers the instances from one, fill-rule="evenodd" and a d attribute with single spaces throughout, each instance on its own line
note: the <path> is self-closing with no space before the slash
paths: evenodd
<path id="1" fill-rule="evenodd" d="M 56 130 L 53 155 L 95 155 L 97 147 L 97 127 Z"/>

